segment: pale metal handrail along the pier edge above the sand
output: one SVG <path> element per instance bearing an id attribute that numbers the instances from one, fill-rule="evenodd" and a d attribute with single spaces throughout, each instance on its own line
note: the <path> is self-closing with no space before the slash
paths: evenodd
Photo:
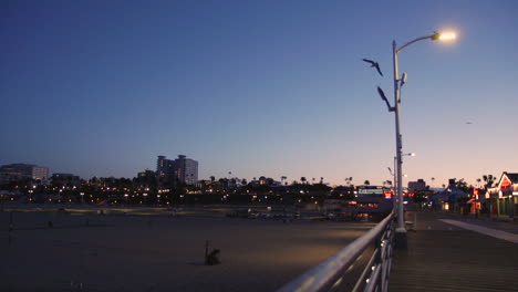
<path id="1" fill-rule="evenodd" d="M 358 238 L 345 248 L 329 257 L 325 261 L 284 284 L 277 292 L 323 292 L 336 291 L 343 286 L 343 277 L 351 270 L 360 255 L 370 247 L 375 250 L 369 264 L 363 269 L 362 275 L 356 280 L 353 291 L 366 284 L 365 291 L 379 288 L 386 291 L 386 282 L 390 271 L 393 242 L 394 212 L 391 212 L 383 221 Z M 387 264 L 385 264 L 385 262 Z M 374 265 L 371 265 L 373 264 Z M 370 269 L 371 268 L 371 269 Z M 366 278 L 365 280 L 365 277 Z M 383 278 L 383 279 L 380 279 Z M 381 284 L 377 280 L 382 280 Z M 364 281 L 364 283 L 362 283 Z M 351 290 L 351 289 L 350 289 Z"/>

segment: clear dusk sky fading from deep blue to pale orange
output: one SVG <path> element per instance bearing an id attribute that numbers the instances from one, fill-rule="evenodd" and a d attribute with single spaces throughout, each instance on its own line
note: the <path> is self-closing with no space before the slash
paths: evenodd
<path id="1" fill-rule="evenodd" d="M 0 165 L 134 177 L 392 179 L 518 171 L 518 1 L 1 1 Z M 362 62 L 380 62 L 384 77 Z M 406 185 L 405 181 L 405 185 Z"/>

